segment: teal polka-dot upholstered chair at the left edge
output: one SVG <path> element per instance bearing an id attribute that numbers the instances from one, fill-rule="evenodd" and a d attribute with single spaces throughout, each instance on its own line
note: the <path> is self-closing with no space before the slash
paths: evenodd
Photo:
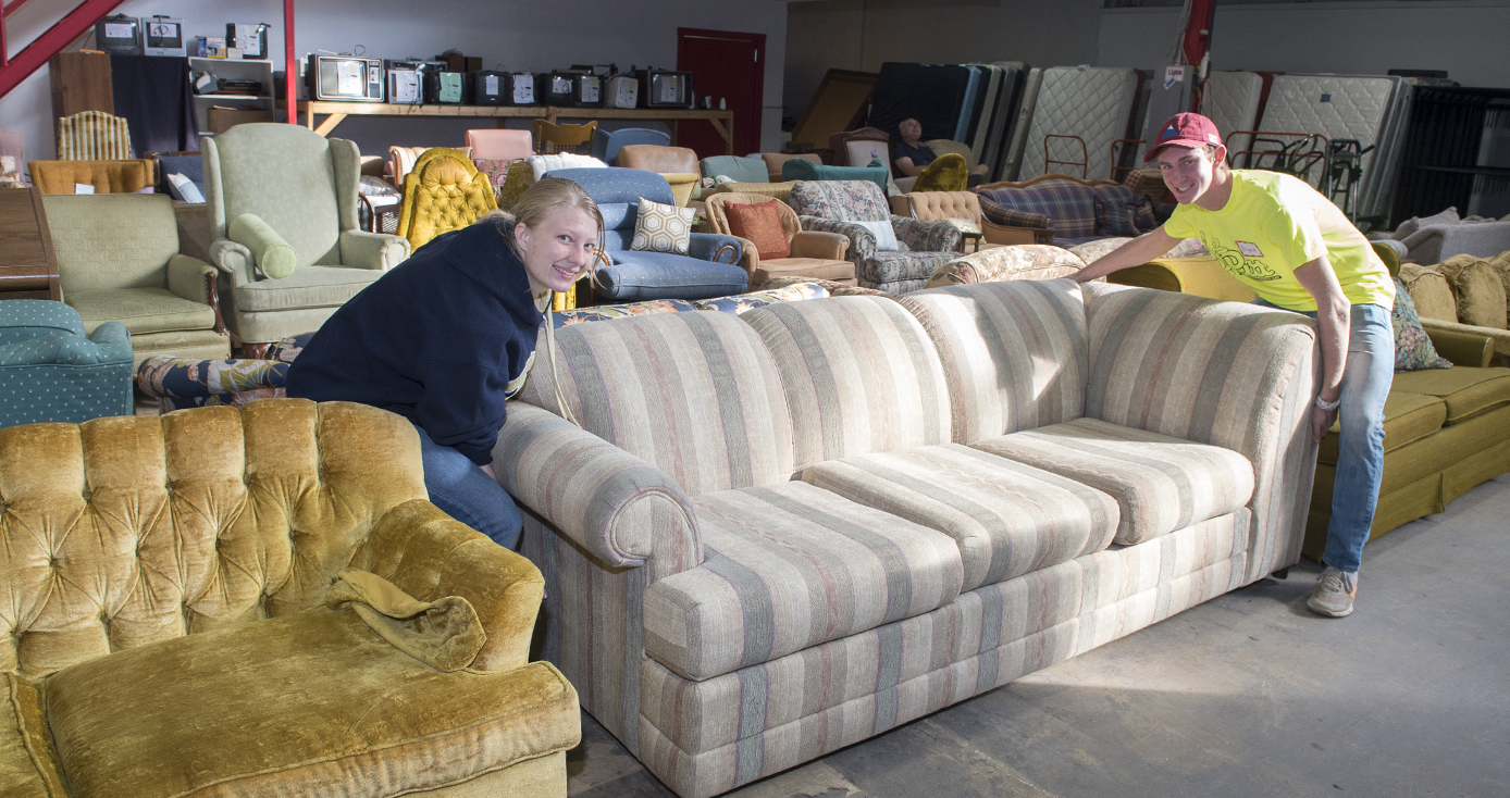
<path id="1" fill-rule="evenodd" d="M 131 413 L 131 335 L 119 321 L 85 336 L 62 302 L 0 302 L 0 427 Z"/>

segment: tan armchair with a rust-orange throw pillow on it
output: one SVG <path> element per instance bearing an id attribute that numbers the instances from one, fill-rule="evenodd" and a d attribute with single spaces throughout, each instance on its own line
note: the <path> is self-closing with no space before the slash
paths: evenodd
<path id="1" fill-rule="evenodd" d="M 726 204 L 758 205 L 761 202 L 776 202 L 764 195 L 726 192 L 711 195 L 707 202 L 708 226 L 713 232 L 734 235 L 729 228 Z M 743 256 L 740 265 L 750 275 L 750 290 L 758 291 L 776 278 L 815 278 L 844 285 L 856 285 L 855 264 L 844 259 L 849 252 L 849 238 L 837 232 L 803 231 L 797 211 L 785 202 L 776 202 L 781 213 L 782 232 L 787 235 L 787 246 L 791 253 L 787 258 L 763 259 L 760 250 L 747 238 L 740 238 Z"/>

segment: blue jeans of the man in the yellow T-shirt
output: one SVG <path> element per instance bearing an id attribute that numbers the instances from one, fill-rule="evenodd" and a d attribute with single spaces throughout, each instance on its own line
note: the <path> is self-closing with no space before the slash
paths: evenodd
<path id="1" fill-rule="evenodd" d="M 1253 303 L 1274 308 L 1261 299 Z M 1305 315 L 1317 317 L 1315 311 Z M 1342 404 L 1338 407 L 1342 428 L 1338 433 L 1332 522 L 1326 531 L 1323 561 L 1353 572 L 1364 563 L 1364 543 L 1374 525 L 1379 481 L 1385 471 L 1385 398 L 1395 379 L 1395 333 L 1389 308 L 1353 305 L 1350 315 Z"/>

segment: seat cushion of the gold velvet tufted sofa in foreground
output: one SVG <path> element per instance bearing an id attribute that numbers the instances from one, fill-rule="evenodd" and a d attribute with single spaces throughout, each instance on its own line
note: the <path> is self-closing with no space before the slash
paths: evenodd
<path id="1" fill-rule="evenodd" d="M 47 709 L 80 798 L 406 795 L 569 748 L 578 729 L 547 664 L 441 673 L 326 608 L 65 668 Z"/>

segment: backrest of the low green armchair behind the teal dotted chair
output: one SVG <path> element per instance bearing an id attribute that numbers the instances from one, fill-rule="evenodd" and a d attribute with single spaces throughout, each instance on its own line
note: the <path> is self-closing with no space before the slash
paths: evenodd
<path id="1" fill-rule="evenodd" d="M 53 195 L 42 202 L 65 297 L 168 285 L 168 261 L 178 255 L 168 195 Z"/>

